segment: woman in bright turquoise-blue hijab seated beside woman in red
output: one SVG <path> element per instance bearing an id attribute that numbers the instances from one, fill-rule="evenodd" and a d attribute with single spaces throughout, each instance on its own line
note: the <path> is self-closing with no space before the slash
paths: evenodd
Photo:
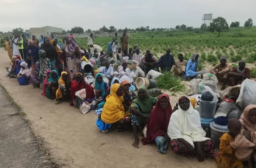
<path id="1" fill-rule="evenodd" d="M 95 90 L 101 90 L 101 95 L 106 98 L 106 90 L 108 88 L 108 84 L 103 81 L 103 75 L 101 73 L 97 73 L 95 76 Z M 97 106 L 97 110 L 99 108 L 103 108 L 105 101 L 101 102 Z"/>

